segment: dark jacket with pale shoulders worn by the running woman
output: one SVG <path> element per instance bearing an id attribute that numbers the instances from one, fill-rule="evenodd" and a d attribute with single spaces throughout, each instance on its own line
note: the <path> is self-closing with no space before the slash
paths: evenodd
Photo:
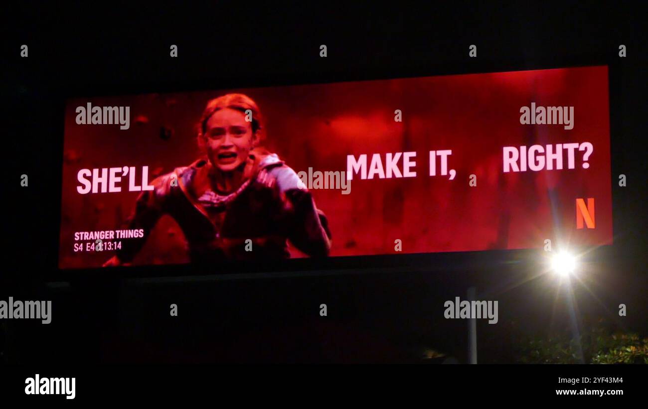
<path id="1" fill-rule="evenodd" d="M 330 231 L 306 186 L 277 155 L 252 151 L 248 180 L 230 195 L 194 191 L 207 176 L 207 160 L 158 177 L 142 192 L 126 228 L 143 229 L 144 238 L 124 239 L 117 257 L 130 262 L 159 217 L 168 214 L 181 227 L 192 262 L 288 258 L 286 239 L 309 256 L 327 256 Z M 251 240 L 251 251 L 249 249 Z"/>

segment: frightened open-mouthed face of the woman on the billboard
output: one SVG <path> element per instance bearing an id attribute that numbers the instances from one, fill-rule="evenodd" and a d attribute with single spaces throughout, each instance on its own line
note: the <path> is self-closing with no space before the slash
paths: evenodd
<path id="1" fill-rule="evenodd" d="M 257 142 L 252 122 L 236 109 L 219 109 L 209 117 L 205 126 L 207 157 L 221 171 L 233 171 L 248 159 Z"/>

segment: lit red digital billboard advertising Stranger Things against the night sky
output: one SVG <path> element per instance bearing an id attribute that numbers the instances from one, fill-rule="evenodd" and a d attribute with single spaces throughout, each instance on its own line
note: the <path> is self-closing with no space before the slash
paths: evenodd
<path id="1" fill-rule="evenodd" d="M 608 67 L 74 98 L 59 267 L 612 242 Z"/>

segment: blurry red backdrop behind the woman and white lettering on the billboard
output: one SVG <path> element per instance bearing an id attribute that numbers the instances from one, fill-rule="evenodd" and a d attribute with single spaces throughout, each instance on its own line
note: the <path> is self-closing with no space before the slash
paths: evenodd
<path id="1" fill-rule="evenodd" d="M 69 100 L 65 113 L 60 267 L 96 267 L 111 254 L 73 251 L 74 232 L 114 230 L 138 192 L 76 192 L 82 168 L 148 166 L 166 173 L 200 153 L 195 126 L 207 100 L 225 93 L 253 98 L 264 115 L 264 145 L 295 171 L 346 170 L 358 157 L 416 151 L 417 177 L 361 180 L 351 194 L 314 190 L 329 216 L 332 256 L 542 247 L 544 239 L 578 245 L 612 241 L 607 67 L 468 74 L 227 91 Z M 130 106 L 130 129 L 78 125 L 77 106 Z M 574 127 L 521 125 L 520 107 L 573 106 Z M 402 122 L 394 111 L 402 111 Z M 146 122 L 136 122 L 142 116 Z M 174 130 L 168 140 L 160 127 Z M 503 173 L 503 146 L 591 142 L 575 169 Z M 428 151 L 452 149 L 453 181 L 428 176 Z M 402 164 L 402 159 L 399 164 Z M 401 166 L 402 170 L 402 166 Z M 469 186 L 469 175 L 477 186 Z M 153 179 L 151 176 L 150 179 Z M 125 181 L 125 182 L 124 182 Z M 127 178 L 122 179 L 122 190 Z M 575 199 L 596 199 L 596 228 L 575 228 Z M 295 252 L 295 256 L 298 254 Z M 158 223 L 135 263 L 188 261 L 178 226 Z"/>

